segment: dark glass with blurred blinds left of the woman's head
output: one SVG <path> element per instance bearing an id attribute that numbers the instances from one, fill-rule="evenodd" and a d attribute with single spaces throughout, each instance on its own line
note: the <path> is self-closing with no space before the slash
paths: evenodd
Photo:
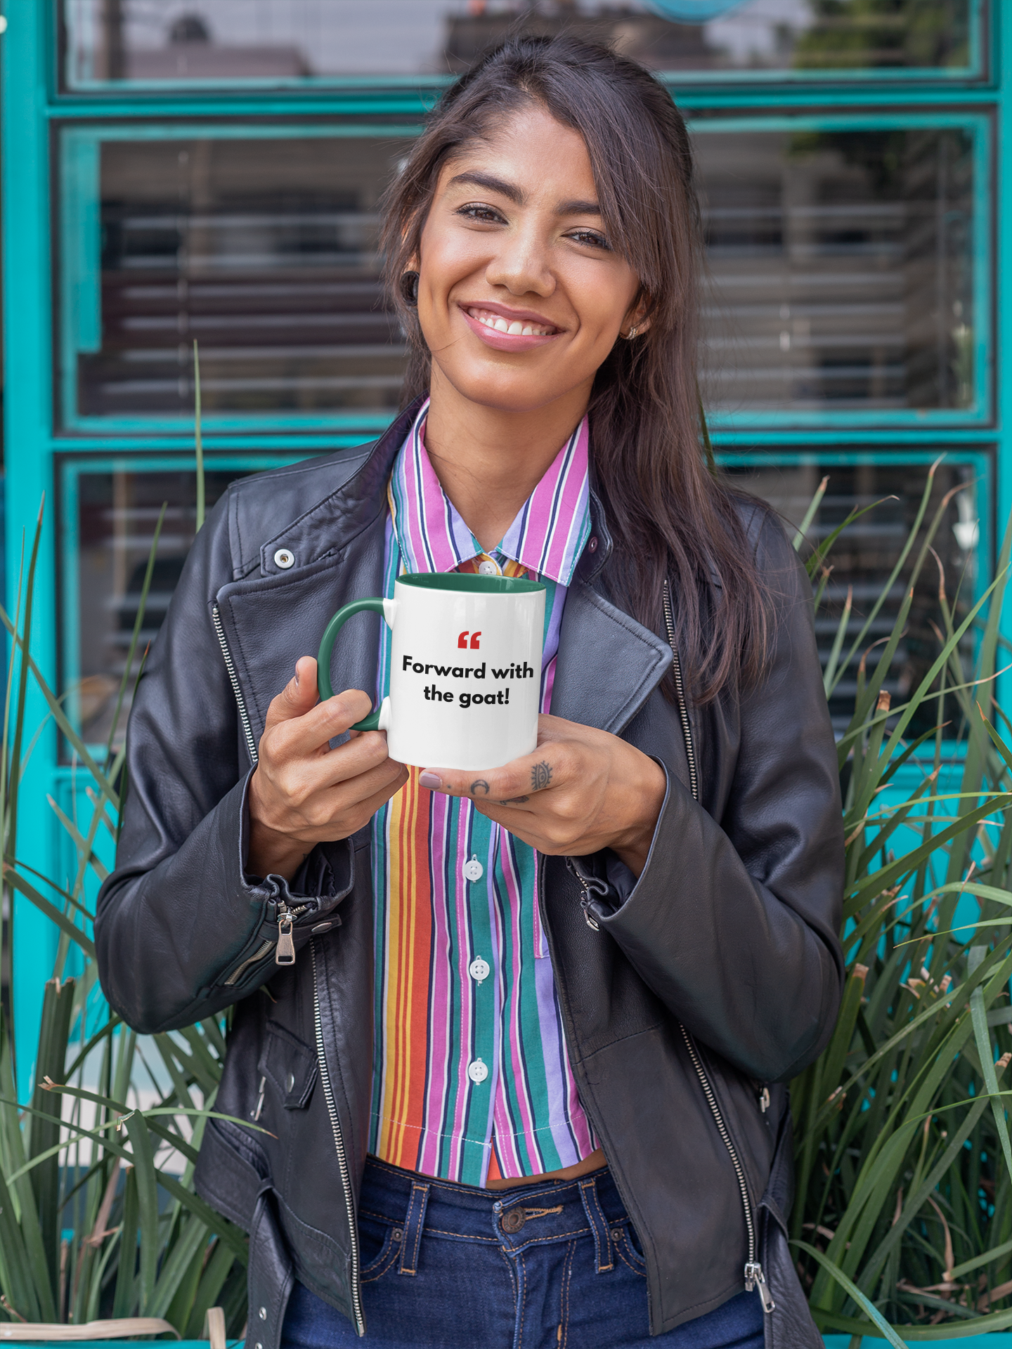
<path id="1" fill-rule="evenodd" d="M 375 208 L 406 146 L 104 142 L 100 314 L 67 291 L 65 417 L 190 417 L 194 339 L 212 418 L 394 409 L 403 344 L 378 283 Z"/>

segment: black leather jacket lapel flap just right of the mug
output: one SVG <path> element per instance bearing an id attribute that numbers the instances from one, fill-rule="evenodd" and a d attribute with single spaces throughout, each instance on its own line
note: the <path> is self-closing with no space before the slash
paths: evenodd
<path id="1" fill-rule="evenodd" d="M 618 735 L 671 666 L 671 648 L 575 580 L 559 634 L 552 715 Z"/>

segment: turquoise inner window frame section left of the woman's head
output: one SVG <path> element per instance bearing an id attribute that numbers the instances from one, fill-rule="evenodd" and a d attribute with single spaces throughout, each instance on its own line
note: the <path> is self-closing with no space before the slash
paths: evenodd
<path id="1" fill-rule="evenodd" d="M 58 128 L 59 163 L 59 271 L 57 384 L 59 429 L 74 436 L 115 436 L 117 433 L 189 429 L 192 418 L 179 417 L 82 417 L 77 411 L 77 352 L 101 349 L 101 225 L 100 225 L 100 159 L 107 142 L 139 143 L 146 140 L 192 140 L 208 136 L 216 140 L 285 140 L 285 139 L 405 139 L 417 136 L 420 123 L 398 124 L 321 124 L 282 123 L 255 125 L 242 121 L 209 123 L 103 123 Z M 90 262 L 89 262 L 90 258 Z M 228 415 L 205 413 L 208 430 L 382 430 L 390 422 L 386 413 L 328 413 L 298 415 Z"/>

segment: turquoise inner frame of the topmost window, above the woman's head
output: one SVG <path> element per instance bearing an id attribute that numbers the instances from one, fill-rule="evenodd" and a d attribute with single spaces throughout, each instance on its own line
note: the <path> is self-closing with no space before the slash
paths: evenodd
<path id="1" fill-rule="evenodd" d="M 58 4 L 57 24 L 63 28 L 63 5 Z M 997 8 L 997 5 L 996 5 Z M 989 50 L 986 43 L 989 18 L 989 0 L 969 0 L 969 61 L 965 66 L 911 66 L 909 69 L 896 69 L 892 66 L 855 66 L 853 69 L 830 70 L 658 70 L 657 78 L 672 88 L 698 88 L 733 85 L 741 88 L 750 85 L 761 89 L 764 85 L 789 84 L 800 86 L 826 88 L 835 85 L 862 85 L 876 88 L 878 85 L 911 85 L 911 84 L 970 84 L 989 78 Z M 449 76 L 412 76 L 410 78 L 391 80 L 390 76 L 321 76 L 317 78 L 259 78 L 259 80 L 84 80 L 72 82 L 69 61 L 70 53 L 66 50 L 67 65 L 58 71 L 58 84 L 63 97 L 86 98 L 96 94 L 181 94 L 181 93 L 210 93 L 235 90 L 236 93 L 254 92 L 376 92 L 391 86 L 410 85 L 412 88 L 432 92 L 436 96 L 449 84 Z"/>

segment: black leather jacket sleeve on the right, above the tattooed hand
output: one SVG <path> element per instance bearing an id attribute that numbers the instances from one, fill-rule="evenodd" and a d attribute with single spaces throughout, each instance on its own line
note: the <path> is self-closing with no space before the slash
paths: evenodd
<path id="1" fill-rule="evenodd" d="M 595 912 L 699 1041 L 775 1082 L 818 1058 L 837 1018 L 843 822 L 811 585 L 769 517 L 757 557 L 772 592 L 770 658 L 739 701 L 722 817 L 668 772 L 640 880 L 606 859 L 617 902 L 598 901 Z M 735 720 L 719 704 L 696 712 L 696 723 L 706 719 L 723 720 L 725 737 Z"/>

